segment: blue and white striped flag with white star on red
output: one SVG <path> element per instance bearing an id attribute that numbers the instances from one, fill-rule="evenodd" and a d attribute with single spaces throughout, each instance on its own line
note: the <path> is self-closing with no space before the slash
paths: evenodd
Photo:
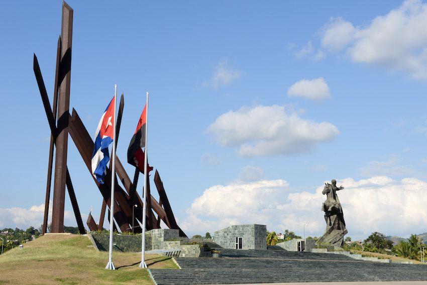
<path id="1" fill-rule="evenodd" d="M 101 184 L 104 183 L 106 168 L 110 161 L 108 146 L 113 142 L 114 137 L 115 104 L 116 102 L 114 102 L 113 97 L 104 114 L 102 114 L 95 133 L 95 147 L 92 153 L 92 174 Z"/>

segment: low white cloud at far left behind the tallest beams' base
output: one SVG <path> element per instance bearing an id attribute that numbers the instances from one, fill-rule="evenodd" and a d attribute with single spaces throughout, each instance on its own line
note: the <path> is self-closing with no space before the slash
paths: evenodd
<path id="1" fill-rule="evenodd" d="M 52 204 L 49 203 L 49 217 L 48 220 L 52 219 Z M 24 209 L 19 207 L 14 208 L 0 208 L 0 226 L 7 228 L 20 228 L 27 229 L 30 226 L 39 228 L 43 224 L 45 204 L 39 206 L 32 206 L 30 209 Z M 66 225 L 76 225 L 74 214 L 71 211 L 64 212 L 64 223 Z"/>

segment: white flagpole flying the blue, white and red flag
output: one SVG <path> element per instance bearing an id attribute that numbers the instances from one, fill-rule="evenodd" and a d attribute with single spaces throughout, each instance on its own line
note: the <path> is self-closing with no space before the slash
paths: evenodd
<path id="1" fill-rule="evenodd" d="M 113 225 L 114 225 L 114 186 L 116 178 L 116 104 L 117 103 L 117 84 L 114 84 L 114 122 L 113 122 L 113 163 L 111 169 L 111 199 L 110 199 L 110 252 L 108 263 L 105 269 L 116 270 L 113 264 Z"/>

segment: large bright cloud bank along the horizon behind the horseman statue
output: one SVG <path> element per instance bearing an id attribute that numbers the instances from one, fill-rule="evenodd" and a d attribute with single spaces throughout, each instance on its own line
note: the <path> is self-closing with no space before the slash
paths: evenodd
<path id="1" fill-rule="evenodd" d="M 338 179 L 345 188 L 338 193 L 349 236 L 366 238 L 378 231 L 407 237 L 426 232 L 427 183 L 414 178 L 393 180 L 387 176 L 369 179 Z M 323 184 L 323 183 L 322 183 Z M 285 180 L 235 181 L 207 188 L 187 210 L 181 223 L 187 232 L 213 232 L 233 224 L 263 224 L 276 232 L 289 229 L 306 235 L 323 235 L 321 212 L 326 197 L 323 185 L 294 192 Z"/>

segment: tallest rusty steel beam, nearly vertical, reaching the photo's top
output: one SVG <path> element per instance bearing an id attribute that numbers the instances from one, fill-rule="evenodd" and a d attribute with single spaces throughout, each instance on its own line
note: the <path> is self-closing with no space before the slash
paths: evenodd
<path id="1" fill-rule="evenodd" d="M 68 148 L 68 111 L 70 106 L 71 84 L 72 33 L 73 10 L 70 6 L 68 6 L 68 4 L 62 2 L 61 69 L 64 69 L 64 66 L 69 66 L 69 70 L 67 70 L 67 72 L 65 73 L 64 79 L 58 82 L 58 136 L 56 138 L 55 176 L 52 207 L 53 233 L 62 233 L 64 231 L 65 183 Z M 63 71 L 61 73 L 63 73 Z"/>

